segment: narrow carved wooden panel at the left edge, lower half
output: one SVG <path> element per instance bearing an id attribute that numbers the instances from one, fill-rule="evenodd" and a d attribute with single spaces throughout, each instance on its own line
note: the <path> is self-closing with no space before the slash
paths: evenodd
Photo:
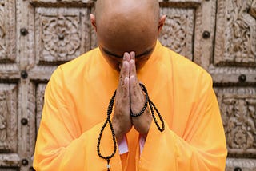
<path id="1" fill-rule="evenodd" d="M 14 153 L 17 146 L 17 87 L 0 84 L 0 152 Z"/>

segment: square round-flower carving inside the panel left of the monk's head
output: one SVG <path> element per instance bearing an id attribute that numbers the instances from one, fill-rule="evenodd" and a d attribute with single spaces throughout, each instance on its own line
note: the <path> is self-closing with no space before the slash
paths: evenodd
<path id="1" fill-rule="evenodd" d="M 66 61 L 78 56 L 78 22 L 78 16 L 42 16 L 42 60 Z"/>

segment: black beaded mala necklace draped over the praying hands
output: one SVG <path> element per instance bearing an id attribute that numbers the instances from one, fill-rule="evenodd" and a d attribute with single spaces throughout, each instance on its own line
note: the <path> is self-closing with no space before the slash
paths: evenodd
<path id="1" fill-rule="evenodd" d="M 151 114 L 152 114 L 152 117 L 153 117 L 153 120 L 154 120 L 154 123 L 155 125 L 157 125 L 158 127 L 158 130 L 160 132 L 164 131 L 165 129 L 165 125 L 164 125 L 164 121 L 162 119 L 162 116 L 161 114 L 159 113 L 158 109 L 156 108 L 156 106 L 154 105 L 154 103 L 152 101 L 150 101 L 150 97 L 147 93 L 147 90 L 146 90 L 146 87 L 145 85 L 142 85 L 141 83 L 139 83 L 139 85 L 141 86 L 142 88 L 142 91 L 145 93 L 145 104 L 142 108 L 142 111 L 140 111 L 140 113 L 137 113 L 137 114 L 134 114 L 132 113 L 132 111 L 130 110 L 130 116 L 131 117 L 139 117 L 142 115 L 142 113 L 145 112 L 146 108 L 148 105 L 150 105 L 150 111 L 151 111 Z M 115 134 L 114 134 L 114 128 L 113 128 L 113 125 L 111 123 L 111 120 L 110 120 L 110 115 L 112 113 L 112 110 L 113 110 L 113 106 L 114 106 L 114 97 L 116 95 L 116 90 L 114 91 L 114 94 L 113 96 L 111 97 L 110 99 L 110 103 L 109 103 L 109 106 L 107 108 L 107 117 L 106 117 L 106 121 L 104 123 L 104 125 L 102 126 L 102 129 L 101 129 L 101 132 L 99 133 L 99 136 L 98 136 L 98 143 L 97 143 L 97 153 L 98 153 L 98 156 L 101 157 L 102 159 L 106 160 L 107 161 L 107 164 L 106 164 L 106 168 L 108 171 L 110 171 L 110 159 L 112 157 L 114 157 L 114 154 L 117 152 L 117 141 L 115 140 Z M 157 112 L 158 114 L 158 117 L 161 121 L 161 124 L 162 124 L 162 127 L 160 127 L 160 125 L 158 124 L 158 121 L 154 115 L 154 110 Z M 104 129 L 106 128 L 106 125 L 107 124 L 110 124 L 110 130 L 111 130 L 111 133 L 112 133 L 112 139 L 113 139 L 113 144 L 114 144 L 114 151 L 113 153 L 111 153 L 109 156 L 102 156 L 102 153 L 100 152 L 100 145 L 101 145 L 101 140 L 102 140 L 102 133 L 104 131 Z"/>

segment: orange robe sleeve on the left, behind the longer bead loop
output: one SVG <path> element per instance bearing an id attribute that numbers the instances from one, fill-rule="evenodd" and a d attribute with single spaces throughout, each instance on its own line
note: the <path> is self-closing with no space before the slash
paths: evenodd
<path id="1" fill-rule="evenodd" d="M 75 109 L 65 102 L 61 74 L 54 72 L 46 86 L 42 120 L 34 153 L 35 170 L 106 170 L 106 161 L 98 157 L 98 135 L 102 122 L 82 132 L 75 120 Z M 114 145 L 109 126 L 103 132 L 102 155 L 110 155 Z M 117 149 L 118 153 L 118 149 Z M 122 170 L 119 155 L 111 159 L 112 168 Z"/>

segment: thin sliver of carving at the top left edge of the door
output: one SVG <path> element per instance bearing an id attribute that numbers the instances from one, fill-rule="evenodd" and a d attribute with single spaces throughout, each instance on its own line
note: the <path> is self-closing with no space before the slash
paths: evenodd
<path id="1" fill-rule="evenodd" d="M 0 1 L 0 58 L 5 58 L 6 49 L 4 46 L 4 37 L 5 37 L 5 29 L 4 29 L 4 1 Z"/>

